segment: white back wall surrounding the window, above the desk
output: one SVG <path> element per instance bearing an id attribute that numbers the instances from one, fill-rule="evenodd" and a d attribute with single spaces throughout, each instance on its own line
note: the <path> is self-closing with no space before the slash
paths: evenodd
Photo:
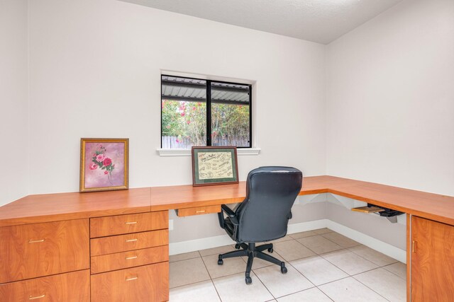
<path id="1" fill-rule="evenodd" d="M 31 193 L 77 191 L 79 139 L 128 137 L 130 187 L 192 183 L 160 157 L 160 70 L 256 81 L 259 165 L 325 174 L 325 47 L 112 0 L 30 3 Z M 291 148 L 289 148 L 291 146 Z"/>

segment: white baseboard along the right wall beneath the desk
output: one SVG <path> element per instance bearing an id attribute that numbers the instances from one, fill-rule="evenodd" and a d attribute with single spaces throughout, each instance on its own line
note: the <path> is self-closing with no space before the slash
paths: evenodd
<path id="1" fill-rule="evenodd" d="M 329 219 L 326 220 L 328 221 L 327 227 L 330 228 L 331 230 L 336 231 L 337 233 L 340 233 L 345 237 L 358 241 L 359 243 L 362 243 L 363 245 L 372 248 L 372 250 L 377 250 L 378 252 L 381 252 L 384 255 L 392 257 L 395 260 L 399 260 L 400 262 L 406 263 L 405 250 L 401 250 L 400 248 L 396 248 L 395 246 L 390 245 L 389 243 L 384 243 L 381 240 L 378 240 L 376 238 L 353 230 L 353 228 L 343 226 L 340 223 L 331 221 Z"/>

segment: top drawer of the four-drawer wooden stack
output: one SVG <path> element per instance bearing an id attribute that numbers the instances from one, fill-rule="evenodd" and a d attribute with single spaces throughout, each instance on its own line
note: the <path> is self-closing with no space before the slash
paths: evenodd
<path id="1" fill-rule="evenodd" d="M 90 238 L 159 230 L 169 227 L 168 211 L 90 219 Z"/>

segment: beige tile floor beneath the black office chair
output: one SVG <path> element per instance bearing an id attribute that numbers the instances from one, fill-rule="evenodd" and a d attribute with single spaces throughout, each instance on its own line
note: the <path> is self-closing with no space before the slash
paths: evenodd
<path id="1" fill-rule="evenodd" d="M 328 228 L 273 242 L 277 265 L 255 259 L 245 284 L 246 258 L 218 253 L 233 245 L 170 256 L 170 302 L 406 301 L 406 265 Z"/>

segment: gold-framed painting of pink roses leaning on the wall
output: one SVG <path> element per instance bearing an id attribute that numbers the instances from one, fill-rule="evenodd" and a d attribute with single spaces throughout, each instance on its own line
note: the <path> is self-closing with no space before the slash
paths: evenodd
<path id="1" fill-rule="evenodd" d="M 129 139 L 80 139 L 79 192 L 128 189 Z"/>

